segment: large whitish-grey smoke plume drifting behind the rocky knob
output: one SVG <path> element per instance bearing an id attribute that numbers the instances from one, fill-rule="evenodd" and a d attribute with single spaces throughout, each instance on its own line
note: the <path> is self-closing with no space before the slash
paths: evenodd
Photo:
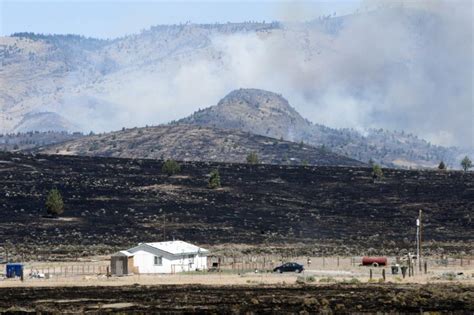
<path id="1" fill-rule="evenodd" d="M 390 7 L 344 17 L 337 31 L 326 31 L 326 20 L 213 36 L 205 53 L 132 74 L 104 95 L 121 114 L 98 129 L 178 119 L 251 87 L 283 94 L 316 123 L 406 130 L 474 147 L 471 2 Z"/>

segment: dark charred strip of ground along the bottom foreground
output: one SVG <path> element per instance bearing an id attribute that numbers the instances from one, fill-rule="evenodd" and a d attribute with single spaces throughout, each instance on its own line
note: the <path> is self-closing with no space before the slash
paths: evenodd
<path id="1" fill-rule="evenodd" d="M 470 314 L 474 287 L 364 284 L 323 286 L 121 286 L 0 289 L 0 313 L 401 313 Z M 28 298 L 25 298 L 27 296 Z"/>

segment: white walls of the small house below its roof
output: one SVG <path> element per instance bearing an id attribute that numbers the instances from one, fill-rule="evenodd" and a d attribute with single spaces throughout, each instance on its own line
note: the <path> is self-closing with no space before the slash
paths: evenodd
<path id="1" fill-rule="evenodd" d="M 155 265 L 155 256 L 162 257 L 161 265 Z M 194 271 L 196 269 L 205 270 L 207 269 L 207 257 L 194 255 L 194 258 L 190 259 L 188 255 L 155 255 L 145 250 L 139 250 L 134 253 L 133 265 L 137 267 L 138 272 L 142 274 Z"/>

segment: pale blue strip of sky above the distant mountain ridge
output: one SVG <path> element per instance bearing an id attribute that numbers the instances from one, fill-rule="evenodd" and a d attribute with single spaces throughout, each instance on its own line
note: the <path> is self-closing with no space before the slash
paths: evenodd
<path id="1" fill-rule="evenodd" d="M 12 1 L 0 0 L 0 35 L 14 32 L 114 38 L 157 24 L 309 20 L 354 12 L 361 0 Z"/>

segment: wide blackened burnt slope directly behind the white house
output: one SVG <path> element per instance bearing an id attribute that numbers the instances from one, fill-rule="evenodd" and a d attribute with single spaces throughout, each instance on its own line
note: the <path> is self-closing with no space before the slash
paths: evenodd
<path id="1" fill-rule="evenodd" d="M 306 244 L 313 253 L 397 254 L 413 249 L 424 210 L 426 253 L 472 252 L 474 174 L 0 154 L 0 240 L 11 251 L 89 255 L 166 235 L 202 245 Z M 218 168 L 222 189 L 207 188 Z M 42 217 L 51 187 L 67 220 Z M 5 244 L 3 244 L 5 245 Z M 82 252 L 84 251 L 84 252 Z"/>

